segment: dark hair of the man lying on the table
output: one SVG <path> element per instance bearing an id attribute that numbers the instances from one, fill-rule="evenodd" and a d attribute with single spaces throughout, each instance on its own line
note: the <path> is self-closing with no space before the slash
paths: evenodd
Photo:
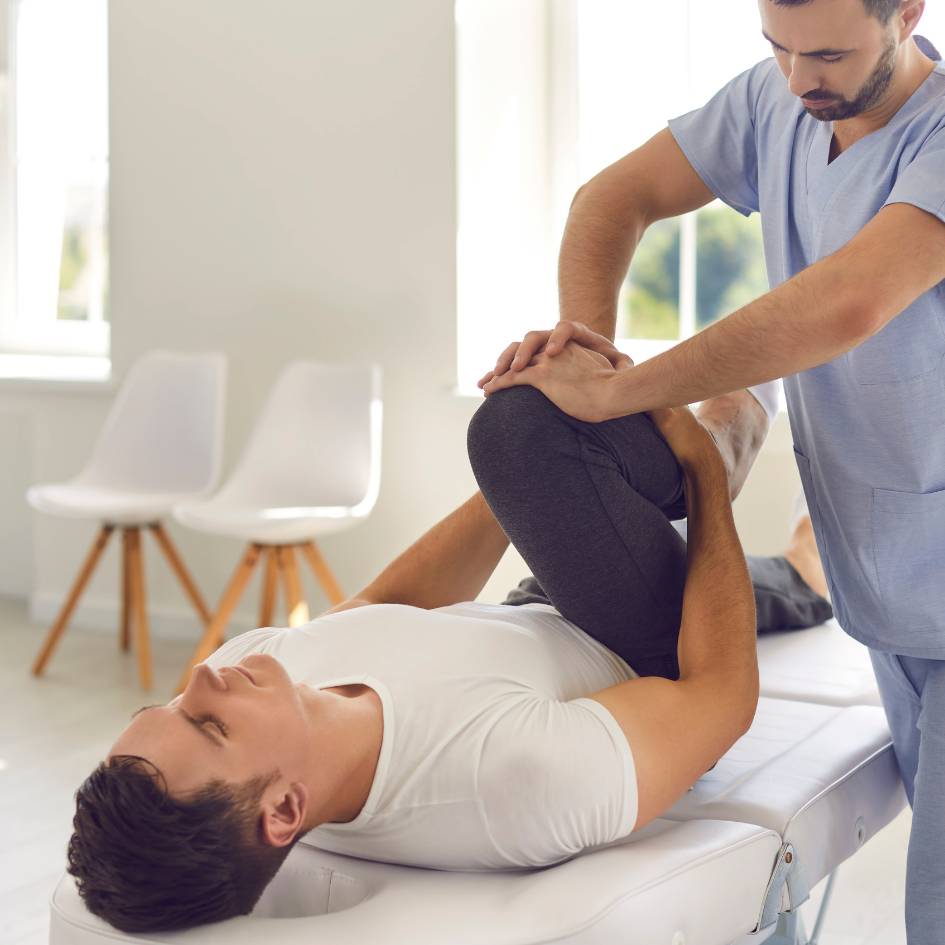
<path id="1" fill-rule="evenodd" d="M 69 841 L 69 872 L 86 906 L 123 932 L 250 912 L 295 842 L 274 847 L 261 834 L 259 803 L 273 777 L 209 781 L 178 800 L 144 758 L 100 764 L 76 792 Z"/>

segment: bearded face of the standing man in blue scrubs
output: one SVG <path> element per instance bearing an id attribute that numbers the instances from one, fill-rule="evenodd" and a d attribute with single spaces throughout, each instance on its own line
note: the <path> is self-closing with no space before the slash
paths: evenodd
<path id="1" fill-rule="evenodd" d="M 760 0 L 762 29 L 790 90 L 818 121 L 843 121 L 886 98 L 899 52 L 887 24 L 863 0 L 811 0 L 781 6 Z M 802 55 L 819 53 L 819 55 Z"/>

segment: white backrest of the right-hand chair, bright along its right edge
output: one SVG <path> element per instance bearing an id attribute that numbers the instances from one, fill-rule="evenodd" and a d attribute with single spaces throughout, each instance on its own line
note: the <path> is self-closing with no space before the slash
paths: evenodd
<path id="1" fill-rule="evenodd" d="M 377 365 L 291 362 L 214 501 L 367 514 L 380 487 L 381 413 Z"/>

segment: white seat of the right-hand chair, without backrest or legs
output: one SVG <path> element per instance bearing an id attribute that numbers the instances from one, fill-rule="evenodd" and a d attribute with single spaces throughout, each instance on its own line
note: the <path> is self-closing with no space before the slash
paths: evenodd
<path id="1" fill-rule="evenodd" d="M 210 500 L 178 505 L 174 517 L 182 525 L 213 535 L 262 545 L 289 545 L 346 531 L 364 521 L 367 512 L 345 506 L 260 508 Z"/>

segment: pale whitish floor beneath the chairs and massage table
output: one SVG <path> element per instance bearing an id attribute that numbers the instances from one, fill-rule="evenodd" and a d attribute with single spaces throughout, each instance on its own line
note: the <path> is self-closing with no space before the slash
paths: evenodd
<path id="1" fill-rule="evenodd" d="M 46 942 L 73 792 L 135 709 L 170 698 L 190 651 L 181 641 L 155 641 L 155 686 L 142 693 L 117 633 L 75 631 L 36 680 L 29 666 L 44 632 L 21 603 L 0 599 L 0 945 Z M 842 867 L 820 945 L 905 945 L 909 825 L 907 811 Z M 803 907 L 808 932 L 821 894 L 822 887 Z"/>

